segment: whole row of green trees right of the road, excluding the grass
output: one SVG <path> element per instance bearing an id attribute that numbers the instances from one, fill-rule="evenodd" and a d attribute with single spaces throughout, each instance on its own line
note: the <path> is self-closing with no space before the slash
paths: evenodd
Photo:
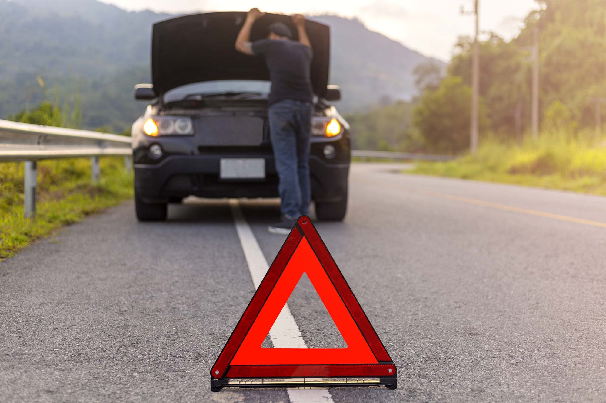
<path id="1" fill-rule="evenodd" d="M 535 31 L 541 130 L 564 131 L 578 138 L 583 131 L 595 129 L 596 98 L 606 98 L 606 4 L 537 0 L 536 10 L 524 19 L 516 38 L 505 41 L 495 33 L 479 38 L 480 145 L 496 140 L 515 146 L 530 136 L 533 59 L 529 47 Z M 431 61 L 418 65 L 413 75 L 419 95 L 411 102 L 385 102 L 367 113 L 346 116 L 354 148 L 467 152 L 472 48 L 473 38 L 461 36 L 445 71 Z M 606 105 L 601 113 L 606 122 Z"/>

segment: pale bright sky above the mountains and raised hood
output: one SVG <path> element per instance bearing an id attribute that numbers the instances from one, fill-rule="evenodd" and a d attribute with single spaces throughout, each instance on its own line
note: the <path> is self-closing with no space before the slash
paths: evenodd
<path id="1" fill-rule="evenodd" d="M 471 35 L 473 0 L 101 0 L 126 10 L 191 13 L 242 11 L 259 7 L 273 13 L 331 13 L 357 17 L 373 31 L 401 42 L 426 56 L 449 61 L 459 35 Z M 480 30 L 494 31 L 506 39 L 519 31 L 521 21 L 536 9 L 534 0 L 480 0 Z"/>

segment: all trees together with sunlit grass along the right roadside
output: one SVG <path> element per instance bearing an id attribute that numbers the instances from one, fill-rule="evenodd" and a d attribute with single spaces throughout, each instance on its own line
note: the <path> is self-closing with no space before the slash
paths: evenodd
<path id="1" fill-rule="evenodd" d="M 535 32 L 538 140 L 530 138 L 534 61 L 529 48 Z M 605 33 L 603 0 L 536 0 L 516 38 L 482 34 L 476 155 L 467 154 L 473 54 L 473 38 L 467 36 L 459 38 L 445 72 L 431 63 L 415 68 L 416 99 L 379 106 L 381 113 L 348 116 L 353 146 L 459 156 L 419 163 L 411 171 L 418 174 L 606 195 L 606 137 L 596 138 L 606 136 L 604 124 L 596 127 L 596 100 L 606 99 Z M 399 117 L 390 113 L 395 109 Z M 606 122 L 606 104 L 601 114 Z"/>

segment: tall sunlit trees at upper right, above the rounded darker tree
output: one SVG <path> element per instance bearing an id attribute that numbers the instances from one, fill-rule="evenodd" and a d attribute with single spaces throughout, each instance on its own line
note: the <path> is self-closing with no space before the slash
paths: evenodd
<path id="1" fill-rule="evenodd" d="M 538 10 L 524 20 L 517 38 L 505 42 L 491 34 L 481 42 L 480 96 L 490 110 L 491 129 L 512 137 L 516 112 L 522 128 L 530 126 L 531 64 L 525 60 L 539 30 L 539 104 L 560 102 L 579 126 L 594 122 L 590 96 L 606 96 L 606 2 L 604 0 L 538 0 Z M 461 37 L 459 53 L 448 74 L 471 82 L 470 38 Z M 570 127 L 574 127 L 571 125 Z"/>

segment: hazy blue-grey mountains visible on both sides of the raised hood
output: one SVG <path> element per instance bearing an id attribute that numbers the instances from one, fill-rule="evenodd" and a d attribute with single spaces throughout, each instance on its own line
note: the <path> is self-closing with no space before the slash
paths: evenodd
<path id="1" fill-rule="evenodd" d="M 0 0 L 0 117 L 54 99 L 56 87 L 81 94 L 85 127 L 121 131 L 145 107 L 132 88 L 149 81 L 151 25 L 171 17 L 96 0 Z M 411 72 L 430 59 L 357 19 L 311 18 L 331 26 L 330 81 L 342 87 L 340 111 L 413 96 Z"/>

